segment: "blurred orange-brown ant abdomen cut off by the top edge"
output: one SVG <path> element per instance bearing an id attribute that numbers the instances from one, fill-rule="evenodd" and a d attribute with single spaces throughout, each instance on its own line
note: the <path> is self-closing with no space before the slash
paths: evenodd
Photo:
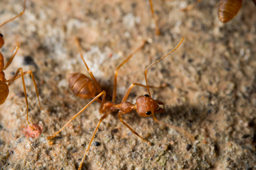
<path id="1" fill-rule="evenodd" d="M 219 5 L 219 19 L 221 22 L 229 22 L 242 7 L 242 0 L 221 0 Z"/>

